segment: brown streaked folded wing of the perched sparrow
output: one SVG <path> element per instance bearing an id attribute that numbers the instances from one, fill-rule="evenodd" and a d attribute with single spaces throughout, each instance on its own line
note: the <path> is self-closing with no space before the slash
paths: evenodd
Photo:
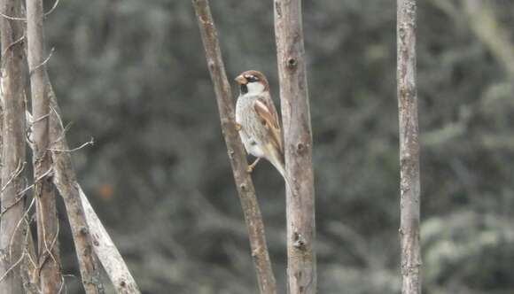
<path id="1" fill-rule="evenodd" d="M 273 143 L 277 151 L 283 154 L 282 132 L 273 101 L 270 97 L 259 97 L 253 103 L 253 108 L 261 118 L 262 124 L 269 130 L 271 143 Z"/>

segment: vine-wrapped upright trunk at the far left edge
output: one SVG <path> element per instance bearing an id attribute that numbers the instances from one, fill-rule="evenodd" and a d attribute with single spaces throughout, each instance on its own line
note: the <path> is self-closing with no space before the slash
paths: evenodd
<path id="1" fill-rule="evenodd" d="M 15 0 L 2 0 L 0 12 L 19 16 L 20 4 Z M 0 221 L 0 290 L 19 294 L 23 289 L 19 275 L 21 263 L 24 205 L 19 200 L 23 189 L 21 168 L 25 166 L 25 103 L 23 99 L 23 43 L 22 29 L 16 20 L 0 17 L 2 43 L 1 74 L 4 99 L 4 134 L 2 150 L 2 187 Z"/>

